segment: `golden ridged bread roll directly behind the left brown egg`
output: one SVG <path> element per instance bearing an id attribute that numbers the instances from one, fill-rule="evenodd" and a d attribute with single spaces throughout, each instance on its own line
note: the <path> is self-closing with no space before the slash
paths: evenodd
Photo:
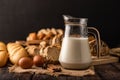
<path id="1" fill-rule="evenodd" d="M 20 58 L 28 56 L 27 51 L 20 44 L 8 43 L 7 49 L 9 53 L 9 59 L 13 64 L 18 64 Z"/>

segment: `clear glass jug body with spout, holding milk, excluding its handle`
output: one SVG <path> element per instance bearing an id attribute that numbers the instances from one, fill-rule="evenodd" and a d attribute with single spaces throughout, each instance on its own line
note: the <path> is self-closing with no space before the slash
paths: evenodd
<path id="1" fill-rule="evenodd" d="M 67 69 L 87 69 L 91 65 L 88 43 L 87 18 L 64 15 L 65 34 L 59 55 L 59 62 Z"/>

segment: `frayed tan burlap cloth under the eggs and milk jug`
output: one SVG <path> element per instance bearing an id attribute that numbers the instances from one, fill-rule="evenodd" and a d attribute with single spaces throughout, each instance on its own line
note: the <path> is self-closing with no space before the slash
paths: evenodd
<path id="1" fill-rule="evenodd" d="M 61 68 L 60 72 L 54 72 L 54 68 Z M 13 65 L 8 68 L 9 72 L 15 72 L 15 73 L 24 73 L 24 72 L 30 72 L 35 74 L 47 74 L 52 76 L 59 76 L 59 75 L 69 75 L 69 76 L 85 76 L 85 75 L 94 75 L 94 67 L 91 66 L 89 69 L 86 70 L 68 70 L 64 69 L 60 65 L 53 65 L 49 64 L 47 69 L 42 69 L 41 67 L 33 66 L 31 69 L 22 69 L 21 67 L 17 65 Z"/>

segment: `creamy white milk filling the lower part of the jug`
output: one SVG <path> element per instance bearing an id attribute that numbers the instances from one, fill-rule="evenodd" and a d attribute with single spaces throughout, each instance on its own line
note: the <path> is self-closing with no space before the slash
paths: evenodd
<path id="1" fill-rule="evenodd" d="M 63 38 L 59 61 L 68 69 L 88 68 L 91 64 L 88 38 Z"/>

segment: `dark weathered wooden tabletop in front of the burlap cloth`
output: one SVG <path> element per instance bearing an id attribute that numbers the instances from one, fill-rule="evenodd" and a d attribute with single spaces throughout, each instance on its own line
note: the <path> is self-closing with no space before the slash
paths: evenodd
<path id="1" fill-rule="evenodd" d="M 9 73 L 7 67 L 0 68 L 0 80 L 120 80 L 120 63 L 110 63 L 95 66 L 93 76 L 49 76 L 34 73 Z"/>

